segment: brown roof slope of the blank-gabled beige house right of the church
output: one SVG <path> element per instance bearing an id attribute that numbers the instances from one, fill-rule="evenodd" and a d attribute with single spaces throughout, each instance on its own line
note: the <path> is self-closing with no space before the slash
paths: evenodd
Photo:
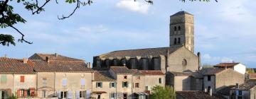
<path id="1" fill-rule="evenodd" d="M 203 75 L 215 75 L 224 70 L 225 69 L 220 69 L 220 68 L 203 68 L 199 71 L 199 73 Z"/>

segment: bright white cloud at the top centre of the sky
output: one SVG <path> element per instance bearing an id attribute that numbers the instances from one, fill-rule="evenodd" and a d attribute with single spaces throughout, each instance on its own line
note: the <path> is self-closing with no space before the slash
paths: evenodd
<path id="1" fill-rule="evenodd" d="M 128 11 L 134 11 L 139 13 L 148 13 L 149 4 L 146 4 L 142 1 L 134 1 L 134 0 L 121 0 L 116 6 L 118 8 L 124 8 Z"/>

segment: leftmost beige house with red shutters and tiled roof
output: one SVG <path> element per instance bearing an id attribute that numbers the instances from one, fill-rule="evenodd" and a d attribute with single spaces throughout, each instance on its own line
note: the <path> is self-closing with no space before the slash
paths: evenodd
<path id="1" fill-rule="evenodd" d="M 18 98 L 36 97 L 36 72 L 26 58 L 0 57 L 0 98 L 12 94 Z"/>

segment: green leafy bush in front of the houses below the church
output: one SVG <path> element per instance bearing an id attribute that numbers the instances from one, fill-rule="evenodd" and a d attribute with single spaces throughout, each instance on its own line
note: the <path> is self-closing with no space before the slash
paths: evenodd
<path id="1" fill-rule="evenodd" d="M 152 88 L 152 94 L 150 95 L 151 99 L 176 99 L 176 93 L 174 87 L 166 86 L 154 86 Z"/>

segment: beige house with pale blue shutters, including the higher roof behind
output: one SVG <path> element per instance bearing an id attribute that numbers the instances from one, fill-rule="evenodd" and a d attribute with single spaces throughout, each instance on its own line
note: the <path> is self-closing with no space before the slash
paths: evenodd
<path id="1" fill-rule="evenodd" d="M 90 98 L 92 69 L 81 59 L 60 54 L 33 54 L 38 98 Z"/>

